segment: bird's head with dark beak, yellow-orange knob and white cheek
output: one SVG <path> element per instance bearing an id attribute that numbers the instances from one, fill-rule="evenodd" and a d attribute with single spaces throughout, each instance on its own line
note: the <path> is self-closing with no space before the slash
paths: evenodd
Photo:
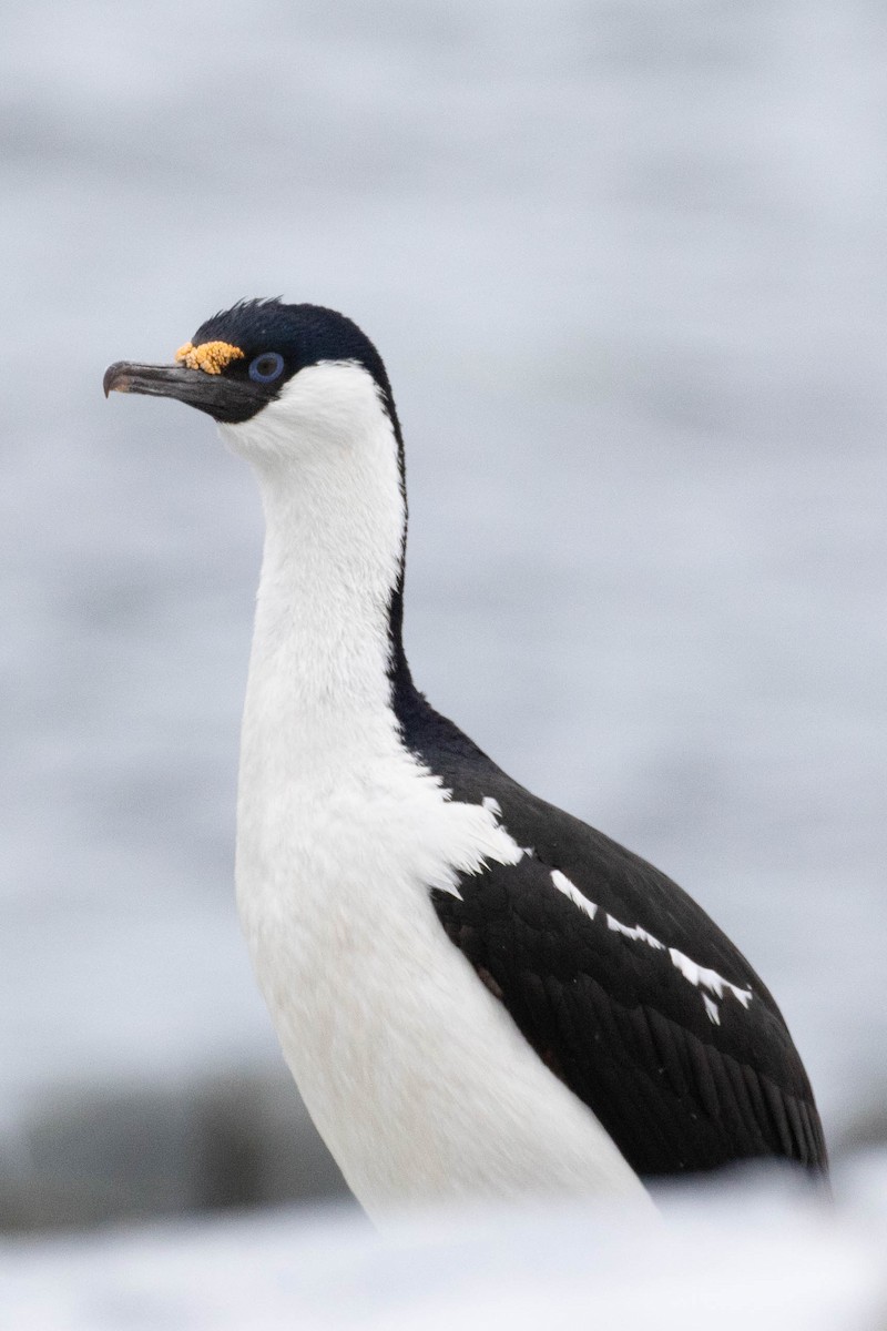
<path id="1" fill-rule="evenodd" d="M 206 411 L 226 442 L 259 466 L 310 462 L 384 426 L 400 462 L 400 430 L 384 365 L 335 310 L 239 301 L 206 319 L 172 365 L 118 361 L 105 395 L 144 393 Z M 317 459 L 315 459 L 317 461 Z"/>

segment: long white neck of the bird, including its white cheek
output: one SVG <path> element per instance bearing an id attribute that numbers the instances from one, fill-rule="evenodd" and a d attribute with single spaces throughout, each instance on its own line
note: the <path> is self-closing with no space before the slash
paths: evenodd
<path id="1" fill-rule="evenodd" d="M 253 421 L 223 426 L 254 466 L 266 536 L 245 712 L 302 777 L 391 740 L 388 614 L 406 506 L 398 443 L 359 366 L 302 370 Z M 258 732 L 258 733 L 257 733 Z"/>

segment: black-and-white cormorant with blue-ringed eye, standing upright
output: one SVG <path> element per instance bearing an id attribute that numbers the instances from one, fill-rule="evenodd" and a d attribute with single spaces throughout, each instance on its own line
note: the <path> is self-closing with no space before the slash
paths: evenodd
<path id="1" fill-rule="evenodd" d="M 742 953 L 414 684 L 403 435 L 360 329 L 243 299 L 104 389 L 206 413 L 258 480 L 237 905 L 285 1059 L 370 1218 L 645 1206 L 658 1181 L 761 1159 L 824 1181 L 810 1081 Z"/>

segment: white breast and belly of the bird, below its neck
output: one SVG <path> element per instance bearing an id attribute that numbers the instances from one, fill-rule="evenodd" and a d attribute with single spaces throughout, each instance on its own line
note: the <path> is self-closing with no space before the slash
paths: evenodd
<path id="1" fill-rule="evenodd" d="M 305 1103 L 379 1218 L 411 1203 L 646 1193 L 447 938 L 428 886 L 521 851 L 406 761 L 241 801 L 238 905 Z"/>

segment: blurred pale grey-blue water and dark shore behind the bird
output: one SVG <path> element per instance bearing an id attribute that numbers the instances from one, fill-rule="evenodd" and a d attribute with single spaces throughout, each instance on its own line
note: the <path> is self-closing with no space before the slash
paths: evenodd
<path id="1" fill-rule="evenodd" d="M 874 0 L 4 17 L 4 1227 L 343 1194 L 233 900 L 258 498 L 101 395 L 246 295 L 387 362 L 420 687 L 887 1139 L 886 59 Z"/>

